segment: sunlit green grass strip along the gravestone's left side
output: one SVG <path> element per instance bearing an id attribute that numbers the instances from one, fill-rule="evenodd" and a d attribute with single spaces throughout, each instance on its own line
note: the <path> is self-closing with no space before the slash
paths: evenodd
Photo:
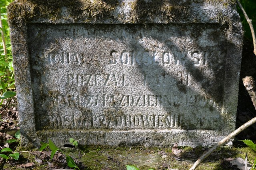
<path id="1" fill-rule="evenodd" d="M 16 95 L 16 92 L 10 91 L 10 89 L 15 89 L 14 85 L 14 70 L 12 65 L 12 51 L 10 43 L 10 29 L 7 23 L 7 13 L 6 7 L 12 2 L 12 0 L 0 0 L 0 12 L 2 28 L 4 33 L 4 41 L 2 36 L 0 36 L 0 99 L 1 104 L 4 99 L 11 98 Z M 5 43 L 4 43 L 5 42 Z M 6 46 L 6 51 L 4 51 L 4 45 Z"/>

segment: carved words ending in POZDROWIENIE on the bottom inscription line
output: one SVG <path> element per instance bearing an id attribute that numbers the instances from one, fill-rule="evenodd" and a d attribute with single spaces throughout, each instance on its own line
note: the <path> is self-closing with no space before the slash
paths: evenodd
<path id="1" fill-rule="evenodd" d="M 87 115 L 75 118 L 72 116 L 72 120 L 67 122 L 64 117 L 61 116 L 51 116 L 52 120 L 50 123 L 51 127 L 63 128 L 69 126 L 76 127 L 77 125 L 83 126 L 83 128 L 180 128 L 181 119 L 179 115 L 120 115 L 112 116 L 109 118 L 106 115 Z M 70 118 L 68 118 L 70 120 Z M 83 122 L 80 122 L 81 119 Z M 66 125 L 64 123 L 67 123 Z M 82 123 L 82 124 L 81 124 Z"/>

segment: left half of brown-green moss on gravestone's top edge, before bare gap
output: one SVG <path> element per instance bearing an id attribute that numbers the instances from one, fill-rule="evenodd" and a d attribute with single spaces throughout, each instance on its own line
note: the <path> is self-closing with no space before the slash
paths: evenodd
<path id="1" fill-rule="evenodd" d="M 62 7 L 68 7 L 70 17 L 104 18 L 115 10 L 118 0 L 18 0 L 8 6 L 8 20 L 11 25 L 23 25 L 34 18 L 55 21 L 62 18 Z"/>

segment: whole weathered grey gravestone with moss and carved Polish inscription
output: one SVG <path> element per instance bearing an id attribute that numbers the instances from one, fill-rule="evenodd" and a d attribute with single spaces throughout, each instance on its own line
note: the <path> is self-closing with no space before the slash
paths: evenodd
<path id="1" fill-rule="evenodd" d="M 195 147 L 235 129 L 233 1 L 18 0 L 8 17 L 24 143 Z"/>

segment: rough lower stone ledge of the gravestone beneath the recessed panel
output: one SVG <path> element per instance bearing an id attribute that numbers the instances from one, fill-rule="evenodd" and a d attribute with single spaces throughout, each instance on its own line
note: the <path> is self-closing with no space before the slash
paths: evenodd
<path id="1" fill-rule="evenodd" d="M 78 135 L 79 134 L 79 135 Z M 218 135 L 218 137 L 216 137 Z M 56 145 L 63 147 L 69 144 L 69 139 L 78 139 L 80 145 L 109 145 L 115 147 L 141 145 L 145 147 L 202 146 L 210 147 L 221 141 L 226 134 L 220 135 L 214 131 L 186 130 L 134 130 L 134 131 L 38 131 L 38 141 L 47 142 L 49 136 Z M 85 139 L 85 140 L 84 140 Z M 203 141 L 203 143 L 202 143 Z M 36 143 L 39 145 L 40 143 Z M 227 145 L 231 145 L 228 143 Z"/>

